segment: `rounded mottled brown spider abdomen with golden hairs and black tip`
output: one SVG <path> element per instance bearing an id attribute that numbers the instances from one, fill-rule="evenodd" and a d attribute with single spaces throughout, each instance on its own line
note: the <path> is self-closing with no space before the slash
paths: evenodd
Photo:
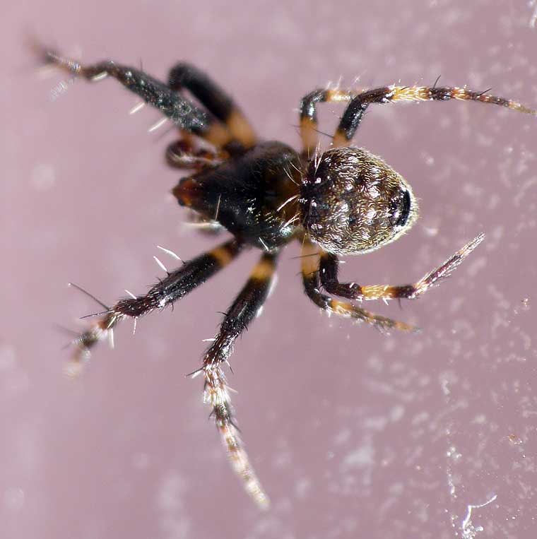
<path id="1" fill-rule="evenodd" d="M 405 179 L 363 148 L 334 148 L 310 162 L 299 202 L 309 237 L 334 254 L 378 249 L 418 217 Z"/>

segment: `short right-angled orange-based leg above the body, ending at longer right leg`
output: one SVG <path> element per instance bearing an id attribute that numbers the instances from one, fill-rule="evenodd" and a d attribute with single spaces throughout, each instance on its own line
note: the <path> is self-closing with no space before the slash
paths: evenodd
<path id="1" fill-rule="evenodd" d="M 348 102 L 358 95 L 357 91 L 328 90 L 317 88 L 302 97 L 300 101 L 300 137 L 303 155 L 310 160 L 317 150 L 319 134 L 317 131 L 317 103 Z"/>

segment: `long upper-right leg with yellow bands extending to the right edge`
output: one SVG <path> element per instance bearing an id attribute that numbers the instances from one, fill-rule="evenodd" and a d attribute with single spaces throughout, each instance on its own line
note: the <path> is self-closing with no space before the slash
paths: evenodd
<path id="1" fill-rule="evenodd" d="M 394 103 L 399 101 L 449 101 L 451 99 L 492 103 L 508 109 L 537 115 L 537 110 L 524 107 L 516 101 L 496 97 L 485 92 L 475 92 L 466 88 L 437 86 L 384 86 L 373 88 L 355 95 L 348 104 L 336 134 L 334 146 L 348 146 L 360 125 L 363 114 L 371 103 Z"/>

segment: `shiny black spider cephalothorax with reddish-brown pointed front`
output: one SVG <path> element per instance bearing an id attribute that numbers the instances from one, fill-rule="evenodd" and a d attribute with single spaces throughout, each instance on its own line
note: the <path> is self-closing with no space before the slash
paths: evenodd
<path id="1" fill-rule="evenodd" d="M 300 158 L 279 142 L 260 143 L 217 167 L 183 178 L 179 204 L 217 220 L 242 241 L 271 250 L 295 232 Z"/>

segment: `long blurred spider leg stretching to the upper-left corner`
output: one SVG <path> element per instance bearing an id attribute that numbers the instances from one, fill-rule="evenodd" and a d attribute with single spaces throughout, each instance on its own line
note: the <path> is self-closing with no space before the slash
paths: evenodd
<path id="1" fill-rule="evenodd" d="M 226 148 L 228 144 L 230 147 L 235 146 L 229 129 L 213 114 L 196 107 L 186 97 L 139 69 L 122 66 L 112 60 L 83 65 L 48 49 L 42 49 L 41 54 L 46 63 L 56 64 L 73 75 L 87 78 L 88 81 L 100 81 L 107 76 L 116 78 L 148 105 L 160 110 L 179 129 L 205 139 L 216 148 Z"/>

